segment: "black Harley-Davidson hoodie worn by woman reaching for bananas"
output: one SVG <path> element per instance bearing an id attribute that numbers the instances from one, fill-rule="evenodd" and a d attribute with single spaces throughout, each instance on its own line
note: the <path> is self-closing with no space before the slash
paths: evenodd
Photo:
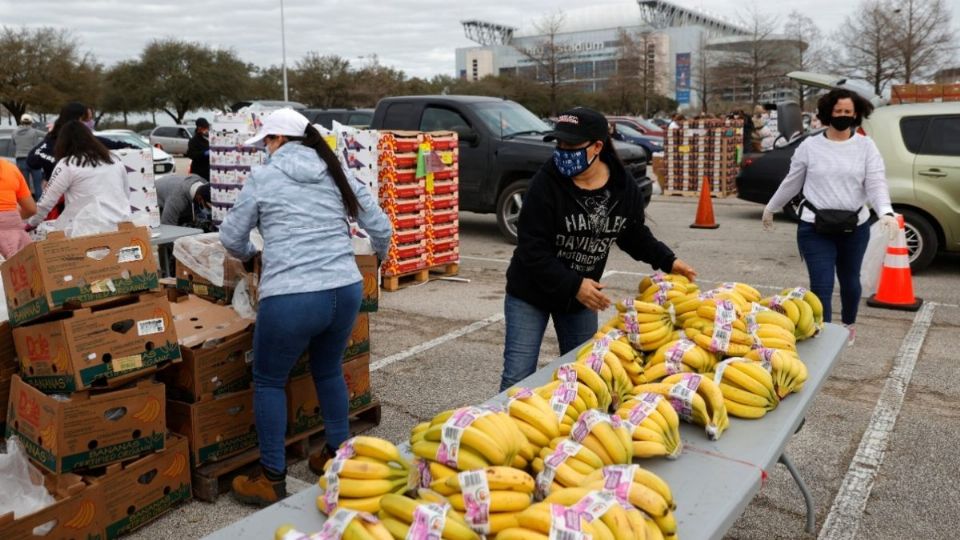
<path id="1" fill-rule="evenodd" d="M 507 293 L 542 310 L 585 309 L 577 299 L 583 278 L 600 281 L 610 245 L 636 260 L 669 272 L 676 256 L 644 225 L 643 195 L 619 161 L 607 159 L 611 202 L 602 228 L 592 231 L 590 213 L 577 199 L 573 180 L 548 161 L 530 182 L 517 248 L 507 268 Z"/>

